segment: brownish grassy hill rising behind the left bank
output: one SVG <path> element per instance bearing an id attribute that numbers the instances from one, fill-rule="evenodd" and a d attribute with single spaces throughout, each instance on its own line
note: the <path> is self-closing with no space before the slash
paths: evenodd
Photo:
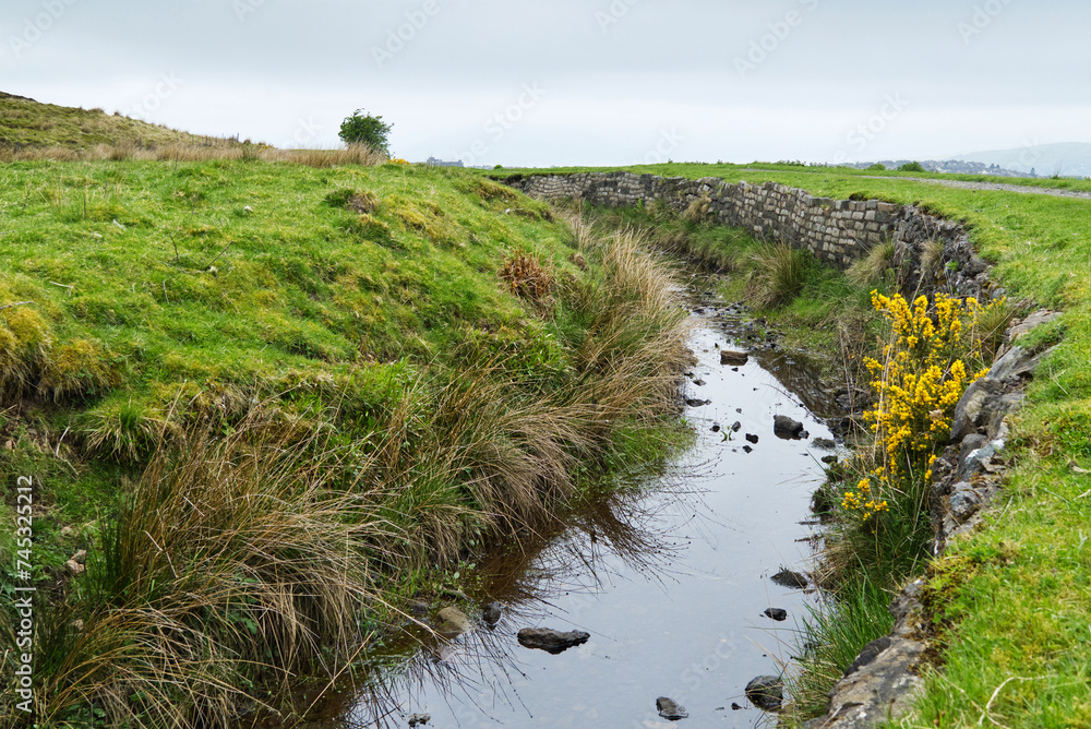
<path id="1" fill-rule="evenodd" d="M 199 136 L 179 132 L 101 109 L 76 109 L 41 104 L 33 98 L 0 92 L 0 148 L 65 147 L 86 150 L 99 144 L 231 145 L 236 140 Z"/>

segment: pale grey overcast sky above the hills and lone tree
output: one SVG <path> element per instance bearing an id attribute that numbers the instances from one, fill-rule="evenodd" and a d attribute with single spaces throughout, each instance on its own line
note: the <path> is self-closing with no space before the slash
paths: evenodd
<path id="1" fill-rule="evenodd" d="M 1091 142 L 1075 0 L 3 0 L 0 91 L 467 164 L 925 158 Z"/>

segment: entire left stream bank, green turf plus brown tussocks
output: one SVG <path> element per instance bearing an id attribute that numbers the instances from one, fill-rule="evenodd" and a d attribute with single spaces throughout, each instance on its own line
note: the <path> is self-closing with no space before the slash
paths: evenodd
<path id="1" fill-rule="evenodd" d="M 34 485 L 39 726 L 275 708 L 346 670 L 425 567 L 676 438 L 685 312 L 632 235 L 406 165 L 0 180 L 0 469 L 12 524 Z"/>

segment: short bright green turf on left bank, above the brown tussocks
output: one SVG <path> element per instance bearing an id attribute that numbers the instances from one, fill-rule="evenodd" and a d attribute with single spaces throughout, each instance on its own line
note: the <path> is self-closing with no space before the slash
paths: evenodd
<path id="1" fill-rule="evenodd" d="M 371 220 L 325 201 L 345 189 L 375 195 Z M 393 165 L 5 166 L 0 306 L 34 302 L 0 312 L 33 350 L 4 362 L 5 389 L 52 404 L 38 411 L 37 430 L 56 439 L 69 429 L 76 456 L 128 464 L 149 455 L 142 423 L 199 392 L 195 406 L 220 410 L 254 394 L 305 399 L 360 368 L 443 372 L 475 340 L 548 361 L 550 332 L 497 271 L 523 247 L 577 272 L 566 260 L 571 237 L 541 219 L 541 205 L 525 201 L 525 216 L 504 215 L 518 203 L 506 190 L 475 194 L 481 189 Z M 5 478 L 64 470 L 32 468 L 33 432 L 11 428 L 9 439 L 22 434 L 27 447 Z M 71 510 L 58 523 L 91 518 L 108 481 L 109 468 L 95 467 L 58 493 Z"/>

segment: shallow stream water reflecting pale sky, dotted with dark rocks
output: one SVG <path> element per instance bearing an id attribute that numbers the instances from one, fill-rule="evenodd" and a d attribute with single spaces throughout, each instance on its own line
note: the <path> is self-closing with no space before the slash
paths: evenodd
<path id="1" fill-rule="evenodd" d="M 420 715 L 430 720 L 419 726 L 439 729 L 775 725 L 744 688 L 783 672 L 815 599 L 770 577 L 810 565 L 808 502 L 830 454 L 813 440 L 831 438 L 823 421 L 838 413 L 799 355 L 766 349 L 745 366 L 721 364 L 721 347 L 745 349 L 731 338 L 735 310 L 694 282 L 698 363 L 685 391 L 693 447 L 538 543 L 479 563 L 469 603 L 439 598 L 420 616 L 439 624 L 436 611 L 456 606 L 469 632 L 395 641 L 372 671 L 381 679 L 327 693 L 299 726 L 406 727 Z M 808 438 L 775 435 L 776 415 L 802 421 Z M 490 602 L 503 606 L 492 628 L 482 614 Z M 769 608 L 787 610 L 787 620 L 766 617 Z M 523 647 L 524 628 L 590 638 L 551 655 Z M 661 718 L 660 696 L 690 718 Z"/>

